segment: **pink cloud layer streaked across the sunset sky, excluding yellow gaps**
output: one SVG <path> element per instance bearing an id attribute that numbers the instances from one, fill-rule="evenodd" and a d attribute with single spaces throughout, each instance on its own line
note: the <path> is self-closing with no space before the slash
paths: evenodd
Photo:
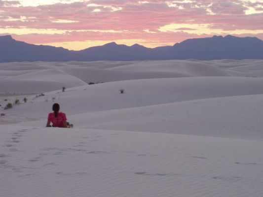
<path id="1" fill-rule="evenodd" d="M 58 30 L 114 30 L 122 33 L 71 32 L 64 34 L 25 34 L 15 38 L 30 43 L 65 42 L 82 40 L 144 39 L 146 42 L 175 43 L 187 38 L 203 37 L 186 33 L 189 28 L 178 28 L 179 32 L 159 32 L 169 24 L 209 24 L 212 29 L 262 30 L 263 14 L 245 15 L 246 6 L 262 10 L 263 3 L 239 0 L 90 0 L 69 4 L 56 3 L 38 7 L 16 6 L 19 1 L 0 0 L 0 28 L 58 29 Z M 168 6 L 166 2 L 172 3 Z M 88 6 L 92 4 L 93 6 Z M 96 4 L 96 6 L 94 5 Z M 116 8 L 116 9 L 115 9 Z M 121 9 L 120 9 L 121 8 Z M 94 12 L 100 9 L 100 12 Z M 209 13 L 212 12 L 214 15 Z M 97 10 L 98 11 L 98 10 Z M 21 18 L 22 17 L 22 18 Z M 54 23 L 57 20 L 72 23 Z M 150 30 L 147 33 L 144 30 Z M 181 31 L 181 32 L 180 32 Z M 18 34 L 18 33 L 17 33 Z M 209 36 L 209 35 L 207 35 Z M 262 37 L 260 34 L 259 36 Z"/>

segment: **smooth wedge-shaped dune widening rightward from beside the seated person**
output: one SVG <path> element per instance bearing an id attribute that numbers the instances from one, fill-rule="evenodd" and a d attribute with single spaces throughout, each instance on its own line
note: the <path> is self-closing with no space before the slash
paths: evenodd
<path id="1" fill-rule="evenodd" d="M 81 129 L 263 140 L 262 99 L 263 95 L 249 95 L 190 100 L 76 114 L 68 119 Z M 45 123 L 44 119 L 18 125 L 41 127 Z"/>

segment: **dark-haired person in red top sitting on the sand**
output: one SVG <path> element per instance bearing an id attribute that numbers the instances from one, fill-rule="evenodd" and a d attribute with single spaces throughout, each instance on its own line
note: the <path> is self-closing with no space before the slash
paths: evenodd
<path id="1" fill-rule="evenodd" d="M 54 103 L 51 112 L 48 114 L 46 127 L 61 127 L 61 128 L 73 128 L 73 124 L 67 122 L 67 117 L 65 113 L 59 112 L 60 106 L 58 103 Z"/>

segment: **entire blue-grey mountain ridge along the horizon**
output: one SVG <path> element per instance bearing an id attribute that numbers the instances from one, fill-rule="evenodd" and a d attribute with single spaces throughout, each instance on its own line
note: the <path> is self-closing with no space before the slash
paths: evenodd
<path id="1" fill-rule="evenodd" d="M 0 36 L 0 62 L 35 61 L 136 61 L 136 60 L 263 59 L 263 40 L 232 35 L 187 39 L 173 46 L 147 48 L 111 42 L 103 46 L 71 51 L 62 47 L 34 45 Z"/>

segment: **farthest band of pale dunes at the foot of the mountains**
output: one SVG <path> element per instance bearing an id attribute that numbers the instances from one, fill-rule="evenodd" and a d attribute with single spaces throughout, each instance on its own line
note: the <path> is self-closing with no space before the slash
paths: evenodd
<path id="1" fill-rule="evenodd" d="M 238 66 L 239 65 L 239 66 Z M 241 65 L 241 66 L 240 66 Z M 0 93 L 42 93 L 62 87 L 78 87 L 89 82 L 197 76 L 261 77 L 262 61 L 143 61 L 143 62 L 66 62 L 0 64 Z M 10 76 L 10 77 L 6 77 Z M 44 82 L 38 89 L 19 80 Z M 48 83 L 46 83 L 48 82 Z M 27 83 L 27 82 L 25 82 Z M 50 84 L 51 83 L 51 84 Z M 6 85 L 3 85 L 6 84 Z M 10 86 L 8 84 L 11 84 Z M 48 86 L 48 88 L 47 88 Z M 12 88 L 16 87 L 16 88 Z"/>

